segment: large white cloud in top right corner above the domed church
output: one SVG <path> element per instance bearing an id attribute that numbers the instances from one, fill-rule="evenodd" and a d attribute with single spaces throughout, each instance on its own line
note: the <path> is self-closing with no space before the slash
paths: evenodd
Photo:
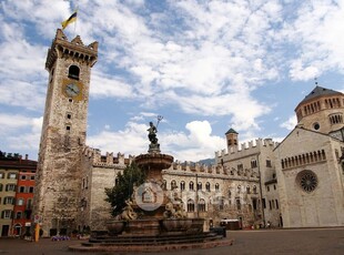
<path id="1" fill-rule="evenodd" d="M 283 33 L 297 50 L 290 65 L 292 79 L 313 79 L 328 70 L 344 73 L 343 8 L 341 1 L 303 2 L 295 21 L 285 26 Z"/>

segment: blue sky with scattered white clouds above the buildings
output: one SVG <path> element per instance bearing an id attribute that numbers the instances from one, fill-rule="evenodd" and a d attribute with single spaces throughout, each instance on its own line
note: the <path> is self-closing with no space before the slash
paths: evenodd
<path id="1" fill-rule="evenodd" d="M 316 82 L 344 91 L 344 0 L 2 0 L 2 152 L 37 160 L 47 51 L 77 8 L 64 33 L 99 42 L 87 144 L 102 154 L 146 153 L 158 115 L 161 152 L 182 162 L 214 157 L 231 128 L 279 142 Z"/>

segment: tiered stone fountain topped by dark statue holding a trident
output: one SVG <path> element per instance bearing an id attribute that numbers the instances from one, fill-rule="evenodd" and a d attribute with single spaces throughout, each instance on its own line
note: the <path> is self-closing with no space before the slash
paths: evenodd
<path id="1" fill-rule="evenodd" d="M 134 162 L 145 173 L 145 182 L 134 187 L 127 206 L 117 217 L 107 222 L 107 231 L 93 233 L 82 246 L 73 251 L 156 252 L 178 248 L 231 245 L 222 235 L 203 232 L 203 218 L 188 218 L 178 192 L 168 191 L 162 170 L 169 169 L 173 156 L 162 154 L 156 126 L 150 122 L 149 151 Z"/>

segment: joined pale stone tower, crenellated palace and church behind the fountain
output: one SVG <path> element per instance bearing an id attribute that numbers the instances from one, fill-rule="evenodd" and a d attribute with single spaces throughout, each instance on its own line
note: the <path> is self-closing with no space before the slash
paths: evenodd
<path id="1" fill-rule="evenodd" d="M 33 214 L 44 236 L 102 231 L 110 215 L 105 187 L 134 161 L 85 144 L 91 69 L 98 42 L 69 41 L 58 29 L 45 69 L 48 92 L 34 190 Z M 245 227 L 344 225 L 344 95 L 318 86 L 296 108 L 297 126 L 280 144 L 257 139 L 227 147 L 214 165 L 174 162 L 164 187 L 179 193 L 190 217 L 205 228 L 221 220 Z"/>

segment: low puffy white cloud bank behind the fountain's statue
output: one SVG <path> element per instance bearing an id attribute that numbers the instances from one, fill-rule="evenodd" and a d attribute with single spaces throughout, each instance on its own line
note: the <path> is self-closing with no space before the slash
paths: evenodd
<path id="1" fill-rule="evenodd" d="M 214 151 L 225 146 L 223 137 L 212 135 L 208 121 L 193 121 L 186 124 L 189 133 L 159 131 L 161 151 L 172 154 L 179 161 L 199 161 L 214 156 Z M 144 154 L 149 150 L 148 125 L 128 123 L 123 131 L 102 131 L 88 137 L 87 144 L 105 152 L 121 152 L 132 155 Z"/>

